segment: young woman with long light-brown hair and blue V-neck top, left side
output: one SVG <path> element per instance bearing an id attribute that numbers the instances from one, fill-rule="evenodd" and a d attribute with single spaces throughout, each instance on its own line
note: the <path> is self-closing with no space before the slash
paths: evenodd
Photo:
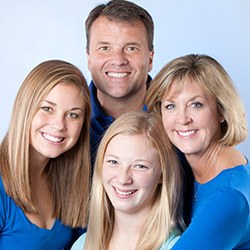
<path id="1" fill-rule="evenodd" d="M 90 97 L 74 65 L 36 66 L 17 94 L 0 146 L 0 248 L 66 249 L 84 227 Z"/>

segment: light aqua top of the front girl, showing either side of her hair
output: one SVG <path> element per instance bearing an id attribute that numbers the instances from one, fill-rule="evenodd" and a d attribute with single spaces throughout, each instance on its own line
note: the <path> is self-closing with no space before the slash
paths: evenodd
<path id="1" fill-rule="evenodd" d="M 176 241 L 180 237 L 180 231 L 176 230 L 173 232 L 170 237 L 166 240 L 166 242 L 161 246 L 159 250 L 169 250 L 173 247 Z M 82 250 L 85 244 L 86 233 L 83 234 L 72 246 L 71 250 Z"/>

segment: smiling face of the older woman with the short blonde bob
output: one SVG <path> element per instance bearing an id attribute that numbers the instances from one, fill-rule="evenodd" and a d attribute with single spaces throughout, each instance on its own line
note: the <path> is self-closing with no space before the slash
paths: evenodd
<path id="1" fill-rule="evenodd" d="M 218 142 L 220 116 L 214 98 L 189 79 L 180 91 L 173 83 L 162 100 L 161 112 L 171 142 L 184 154 L 202 154 Z"/>

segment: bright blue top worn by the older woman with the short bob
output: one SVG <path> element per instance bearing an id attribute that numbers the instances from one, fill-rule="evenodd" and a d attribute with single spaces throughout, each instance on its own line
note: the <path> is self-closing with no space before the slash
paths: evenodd
<path id="1" fill-rule="evenodd" d="M 173 249 L 250 249 L 250 164 L 195 185 L 191 223 Z"/>

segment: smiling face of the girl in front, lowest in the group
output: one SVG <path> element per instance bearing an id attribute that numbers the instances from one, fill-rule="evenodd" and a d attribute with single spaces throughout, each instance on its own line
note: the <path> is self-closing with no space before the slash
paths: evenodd
<path id="1" fill-rule="evenodd" d="M 106 149 L 102 178 L 116 212 L 148 211 L 161 182 L 157 151 L 144 135 L 117 135 Z"/>

